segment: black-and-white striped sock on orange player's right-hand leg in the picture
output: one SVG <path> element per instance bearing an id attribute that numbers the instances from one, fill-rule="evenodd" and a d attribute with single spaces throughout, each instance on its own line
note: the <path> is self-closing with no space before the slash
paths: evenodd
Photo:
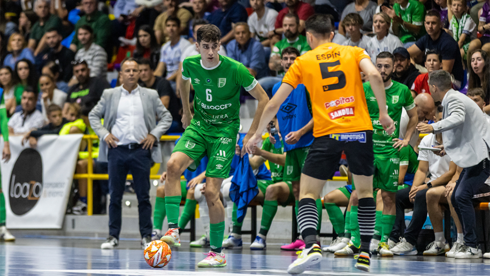
<path id="1" fill-rule="evenodd" d="M 376 203 L 372 197 L 359 199 L 357 219 L 361 234 L 361 251 L 369 252 L 369 244 L 376 224 Z"/>

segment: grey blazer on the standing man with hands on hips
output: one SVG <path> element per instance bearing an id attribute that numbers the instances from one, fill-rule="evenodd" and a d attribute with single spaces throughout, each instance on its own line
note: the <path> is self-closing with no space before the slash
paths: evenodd
<path id="1" fill-rule="evenodd" d="M 106 134 L 111 132 L 116 122 L 117 107 L 121 98 L 121 87 L 105 89 L 97 105 L 88 114 L 90 125 L 101 140 L 99 148 L 99 161 L 101 162 L 107 162 L 108 148 L 103 139 Z M 157 137 L 157 141 L 159 141 L 163 133 L 170 128 L 172 116 L 163 106 L 156 90 L 140 86 L 139 93 L 143 104 L 144 124 L 146 128 L 151 129 L 150 134 Z M 102 118 L 104 118 L 104 125 L 101 124 Z M 158 118 L 158 125 L 155 118 Z M 152 159 L 155 163 L 163 162 L 160 143 L 157 143 L 157 147 L 153 147 Z"/>

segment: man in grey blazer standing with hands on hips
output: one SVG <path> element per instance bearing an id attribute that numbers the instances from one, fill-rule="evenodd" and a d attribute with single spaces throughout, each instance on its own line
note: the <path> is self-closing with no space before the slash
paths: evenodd
<path id="1" fill-rule="evenodd" d="M 109 238 L 101 245 L 102 249 L 113 249 L 119 243 L 121 201 L 129 171 L 138 198 L 141 245 L 145 248 L 151 242 L 150 168 L 152 160 L 162 163 L 158 141 L 172 123 L 157 91 L 138 85 L 138 63 L 134 59 L 121 62 L 120 74 L 122 85 L 105 89 L 88 115 L 90 125 L 101 139 L 99 161 L 108 162 L 109 170 Z"/>

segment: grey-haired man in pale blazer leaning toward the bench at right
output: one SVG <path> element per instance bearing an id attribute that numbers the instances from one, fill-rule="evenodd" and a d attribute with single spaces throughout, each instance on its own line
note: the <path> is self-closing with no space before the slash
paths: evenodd
<path id="1" fill-rule="evenodd" d="M 437 154 L 448 154 L 457 166 L 463 168 L 451 197 L 463 224 L 465 243 L 455 258 L 478 259 L 482 254 L 476 237 L 472 198 L 490 175 L 490 129 L 480 107 L 451 88 L 448 72 L 438 70 L 429 73 L 429 90 L 434 101 L 442 101 L 443 120 L 431 125 L 419 123 L 417 129 L 421 133 L 442 132 L 443 145 L 436 146 L 442 150 Z"/>

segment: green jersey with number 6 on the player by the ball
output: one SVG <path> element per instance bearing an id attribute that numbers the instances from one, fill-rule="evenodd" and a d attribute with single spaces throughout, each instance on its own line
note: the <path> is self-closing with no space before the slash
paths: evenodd
<path id="1" fill-rule="evenodd" d="M 236 137 L 240 126 L 240 88 L 250 91 L 258 83 L 247 67 L 219 56 L 218 65 L 207 68 L 201 55 L 195 55 L 182 63 L 182 78 L 190 79 L 195 91 L 191 124 L 209 136 Z"/>

